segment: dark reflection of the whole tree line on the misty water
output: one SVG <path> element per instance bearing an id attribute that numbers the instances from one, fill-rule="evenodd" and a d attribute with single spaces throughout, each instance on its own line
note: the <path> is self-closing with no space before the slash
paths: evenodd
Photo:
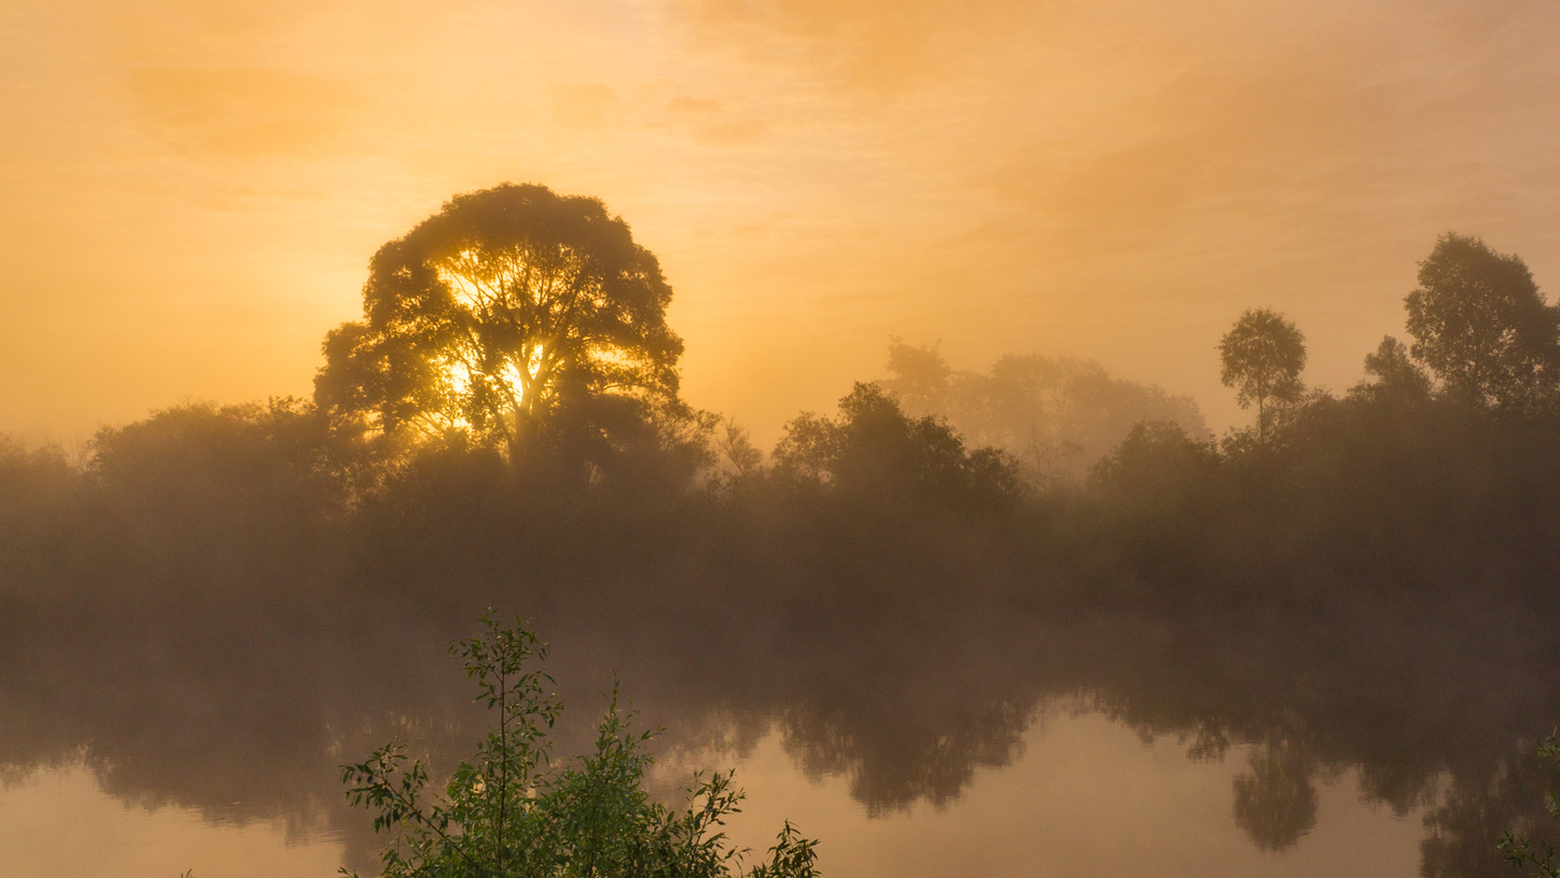
<path id="1" fill-rule="evenodd" d="M 1301 839 L 1317 822 L 1314 778 L 1343 769 L 1399 813 L 1432 805 L 1426 875 L 1504 875 L 1494 839 L 1543 822 L 1532 717 L 1560 716 L 1560 703 L 1543 680 L 1509 674 L 1509 691 L 1488 691 L 1496 669 L 1532 666 L 1521 638 L 1410 650 L 1253 619 L 1229 619 L 1214 638 L 1142 618 L 975 610 L 858 616 L 847 632 L 796 605 L 718 594 L 707 597 L 730 621 L 722 628 L 688 604 L 657 613 L 629 586 L 551 596 L 541 624 L 554 655 L 576 658 L 557 663 L 566 700 L 588 705 L 616 667 L 669 742 L 741 750 L 772 725 L 803 772 L 846 775 L 872 814 L 955 802 L 978 767 L 1016 759 L 1039 705 L 1061 699 L 1143 735 L 1181 735 L 1190 758 L 1253 744 L 1231 800 L 1262 850 Z M 353 866 L 371 867 L 378 845 L 331 769 L 392 725 L 435 759 L 465 750 L 480 717 L 452 696 L 460 688 L 437 649 L 463 628 L 271 597 L 9 614 L 0 759 L 19 770 L 80 755 L 112 795 L 212 820 L 281 820 L 296 837 L 339 831 Z M 788 636 L 755 652 L 749 638 L 764 625 L 744 619 L 778 621 Z M 860 638 L 874 649 L 853 646 Z M 565 741 L 582 749 L 583 731 L 565 730 Z"/>

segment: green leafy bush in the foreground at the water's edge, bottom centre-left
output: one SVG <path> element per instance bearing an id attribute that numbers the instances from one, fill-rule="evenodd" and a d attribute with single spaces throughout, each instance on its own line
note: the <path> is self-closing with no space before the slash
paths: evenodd
<path id="1" fill-rule="evenodd" d="M 596 733 L 596 750 L 554 767 L 548 735 L 563 706 L 551 677 L 529 669 L 546 647 L 519 621 L 491 613 L 479 636 L 451 644 L 463 660 L 477 700 L 498 727 L 460 763 L 445 795 L 427 800 L 426 766 L 407 764 L 392 742 L 359 764 L 343 766 L 353 805 L 378 814 L 376 831 L 395 831 L 382 853 L 385 878 L 716 878 L 735 875 L 741 853 L 721 827 L 743 794 L 730 774 L 690 791 L 683 809 L 651 800 L 643 788 L 651 731 L 632 731 L 613 688 Z M 813 878 L 816 842 L 786 822 L 769 861 L 750 878 Z"/>

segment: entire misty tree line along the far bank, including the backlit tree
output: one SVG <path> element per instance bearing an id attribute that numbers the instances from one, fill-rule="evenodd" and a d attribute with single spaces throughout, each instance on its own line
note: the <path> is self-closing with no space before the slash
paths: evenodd
<path id="1" fill-rule="evenodd" d="M 886 381 L 764 454 L 682 399 L 671 290 L 627 225 L 505 184 L 381 248 L 312 399 L 156 412 L 101 430 L 84 469 L 0 444 L 0 569 L 25 593 L 115 554 L 189 588 L 346 565 L 480 594 L 672 558 L 757 565 L 729 574 L 755 583 L 872 558 L 852 588 L 934 593 L 928 571 L 969 565 L 1030 600 L 1181 608 L 1320 580 L 1533 591 L 1560 522 L 1557 310 L 1474 237 L 1443 235 L 1418 281 L 1410 343 L 1384 338 L 1342 396 L 1306 388 L 1292 321 L 1243 313 L 1218 362 L 1256 418 L 1221 440 L 1190 399 L 1094 363 L 959 373 L 894 340 Z M 92 549 L 61 566 L 72 544 Z"/>

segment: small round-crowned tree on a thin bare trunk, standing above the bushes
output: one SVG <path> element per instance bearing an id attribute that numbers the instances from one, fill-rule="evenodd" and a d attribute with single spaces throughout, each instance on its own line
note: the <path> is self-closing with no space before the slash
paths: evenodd
<path id="1" fill-rule="evenodd" d="M 1306 390 L 1306 337 L 1271 309 L 1251 309 L 1218 343 L 1223 370 L 1218 379 L 1236 388 L 1242 409 L 1257 407 L 1257 443 L 1267 443 L 1273 405 L 1296 402 Z"/>

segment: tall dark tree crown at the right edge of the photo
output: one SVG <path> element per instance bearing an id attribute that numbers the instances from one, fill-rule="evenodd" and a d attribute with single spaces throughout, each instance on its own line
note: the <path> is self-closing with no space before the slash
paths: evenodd
<path id="1" fill-rule="evenodd" d="M 1560 385 L 1560 310 L 1521 257 L 1446 234 L 1406 299 L 1413 356 L 1465 402 L 1527 409 Z"/>

